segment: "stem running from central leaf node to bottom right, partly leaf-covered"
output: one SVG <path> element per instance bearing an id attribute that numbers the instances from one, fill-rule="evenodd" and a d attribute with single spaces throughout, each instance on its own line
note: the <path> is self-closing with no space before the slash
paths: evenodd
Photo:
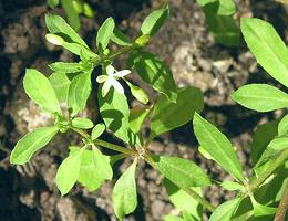
<path id="1" fill-rule="evenodd" d="M 150 155 L 145 158 L 146 162 L 150 164 L 154 169 L 158 170 L 157 165 L 154 162 L 152 157 Z M 176 185 L 174 182 L 174 185 Z M 176 185 L 177 186 L 177 185 Z M 197 202 L 199 202 L 204 208 L 206 208 L 209 212 L 213 212 L 215 210 L 215 207 L 208 202 L 204 197 L 199 196 L 197 192 L 195 192 L 191 188 L 181 188 L 183 191 L 185 191 L 187 194 L 189 194 L 193 199 L 195 199 Z"/>

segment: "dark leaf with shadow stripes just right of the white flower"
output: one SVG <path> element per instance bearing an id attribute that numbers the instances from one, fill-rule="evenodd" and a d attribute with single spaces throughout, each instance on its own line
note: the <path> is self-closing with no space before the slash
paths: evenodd
<path id="1" fill-rule="evenodd" d="M 177 88 L 172 71 L 148 52 L 140 52 L 130 57 L 130 66 L 135 66 L 144 82 L 153 86 L 157 92 L 165 94 L 171 102 L 176 102 Z"/>

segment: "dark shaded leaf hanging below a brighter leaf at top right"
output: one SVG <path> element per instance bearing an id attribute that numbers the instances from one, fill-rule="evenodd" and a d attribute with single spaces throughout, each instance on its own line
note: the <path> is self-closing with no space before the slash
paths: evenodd
<path id="1" fill-rule="evenodd" d="M 203 7 L 206 23 L 212 32 L 214 40 L 218 44 L 226 46 L 238 46 L 240 40 L 240 30 L 233 15 L 220 15 L 220 13 L 230 13 L 229 9 L 220 4 L 220 1 L 214 1 Z"/>

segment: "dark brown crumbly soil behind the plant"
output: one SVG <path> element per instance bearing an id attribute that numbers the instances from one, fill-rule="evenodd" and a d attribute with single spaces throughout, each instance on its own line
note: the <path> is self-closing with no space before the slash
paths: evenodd
<path id="1" fill-rule="evenodd" d="M 135 36 L 143 18 L 160 6 L 160 0 L 96 0 L 89 1 L 95 18 L 81 18 L 81 34 L 92 48 L 99 24 L 109 15 L 120 28 Z M 258 17 L 271 22 L 288 40 L 287 9 L 274 1 L 236 0 L 236 19 Z M 194 85 L 205 95 L 203 115 L 218 126 L 237 147 L 247 173 L 250 173 L 251 134 L 259 124 L 281 113 L 259 114 L 235 105 L 229 95 L 249 82 L 268 82 L 278 85 L 257 66 L 244 42 L 237 49 L 215 44 L 209 34 L 202 9 L 193 0 L 171 0 L 171 19 L 153 38 L 148 51 L 156 53 L 172 69 L 178 86 Z M 116 220 L 111 206 L 112 183 L 96 192 L 78 185 L 62 198 L 55 187 L 55 172 L 68 154 L 69 144 L 78 144 L 73 134 L 56 137 L 25 166 L 9 164 L 9 154 L 17 140 L 51 119 L 23 93 L 22 77 L 25 67 L 49 74 L 47 65 L 54 61 L 73 61 L 75 57 L 44 41 L 44 13 L 51 11 L 44 0 L 0 0 L 0 221 L 101 221 Z M 60 14 L 63 12 L 58 9 Z M 122 59 L 124 60 L 124 57 Z M 122 60 L 117 66 L 124 67 Z M 138 82 L 137 77 L 132 81 Z M 151 96 L 155 96 L 150 91 Z M 132 101 L 132 105 L 134 101 Z M 83 115 L 96 120 L 93 97 Z M 115 141 L 110 135 L 107 139 Z M 217 165 L 206 160 L 197 150 L 191 123 L 162 135 L 152 143 L 152 151 L 194 160 L 215 180 L 230 179 Z M 115 178 L 131 159 L 117 165 Z M 138 207 L 126 220 L 158 221 L 165 214 L 177 214 L 168 202 L 162 177 L 147 165 L 137 170 Z M 213 186 L 205 196 L 214 204 L 230 199 L 233 193 Z"/>

